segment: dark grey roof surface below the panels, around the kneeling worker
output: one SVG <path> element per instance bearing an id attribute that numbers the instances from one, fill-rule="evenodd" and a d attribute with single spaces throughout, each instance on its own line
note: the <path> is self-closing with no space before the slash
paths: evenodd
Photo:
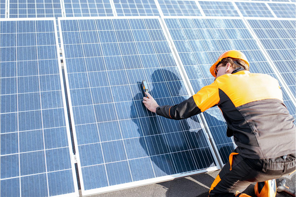
<path id="1" fill-rule="evenodd" d="M 117 196 L 142 196 L 142 197 L 204 197 L 208 196 L 209 189 L 218 175 L 219 171 L 209 172 L 207 174 L 195 175 L 186 178 L 175 179 L 162 183 L 151 185 L 144 185 L 135 188 L 129 188 L 120 191 L 113 191 L 103 194 L 93 195 L 91 197 L 117 197 Z M 295 172 L 292 175 L 283 177 L 287 180 L 287 186 L 295 190 Z M 283 178 L 277 179 L 277 183 Z M 255 196 L 254 185 L 250 185 L 244 193 Z M 81 191 L 80 191 L 81 196 Z M 289 195 L 284 192 L 278 192 L 276 197 L 288 197 Z"/>

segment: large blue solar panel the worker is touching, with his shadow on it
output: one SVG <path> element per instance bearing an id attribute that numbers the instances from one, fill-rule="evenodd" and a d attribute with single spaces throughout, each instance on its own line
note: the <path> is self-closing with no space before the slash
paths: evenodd
<path id="1" fill-rule="evenodd" d="M 189 97 L 159 19 L 69 19 L 61 31 L 82 194 L 216 166 L 197 116 L 142 103 L 143 79 L 160 105 Z"/>

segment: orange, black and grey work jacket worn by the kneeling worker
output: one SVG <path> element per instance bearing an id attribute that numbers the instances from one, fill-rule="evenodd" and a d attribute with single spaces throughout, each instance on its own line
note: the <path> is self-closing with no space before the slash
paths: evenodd
<path id="1" fill-rule="evenodd" d="M 242 68 L 217 77 L 178 105 L 156 108 L 158 115 L 189 118 L 218 106 L 243 157 L 265 159 L 295 153 L 294 118 L 284 105 L 279 82 Z"/>

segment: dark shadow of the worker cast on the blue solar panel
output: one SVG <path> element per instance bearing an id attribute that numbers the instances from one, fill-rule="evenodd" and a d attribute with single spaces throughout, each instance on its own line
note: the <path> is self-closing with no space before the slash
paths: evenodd
<path id="1" fill-rule="evenodd" d="M 151 75 L 149 93 L 159 105 L 175 105 L 186 98 L 186 89 L 176 74 L 158 69 Z M 148 87 L 148 88 L 149 88 Z M 184 120 L 171 120 L 151 113 L 142 103 L 144 92 L 133 97 L 131 118 L 137 125 L 139 142 L 152 162 L 154 177 L 181 174 L 215 166 L 207 139 L 196 116 Z M 140 99 L 140 100 L 139 100 Z M 151 165 L 150 164 L 150 165 Z M 145 164 L 143 164 L 144 167 Z M 149 164 L 145 168 L 149 168 Z M 208 175 L 209 176 L 209 175 Z"/>

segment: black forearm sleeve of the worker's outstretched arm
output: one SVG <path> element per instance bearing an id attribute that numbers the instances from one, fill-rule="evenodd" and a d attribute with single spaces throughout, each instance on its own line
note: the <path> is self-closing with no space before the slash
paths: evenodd
<path id="1" fill-rule="evenodd" d="M 200 108 L 194 102 L 193 97 L 179 103 L 178 105 L 163 105 L 156 108 L 156 113 L 165 118 L 181 120 L 201 113 Z"/>

